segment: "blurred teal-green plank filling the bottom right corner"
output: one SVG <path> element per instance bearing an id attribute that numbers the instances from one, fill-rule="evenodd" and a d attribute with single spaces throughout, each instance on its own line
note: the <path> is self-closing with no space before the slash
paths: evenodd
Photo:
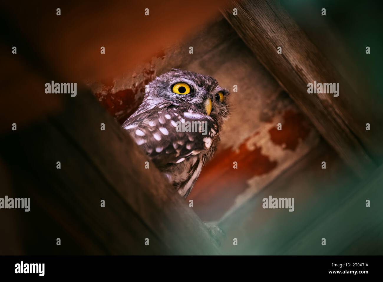
<path id="1" fill-rule="evenodd" d="M 360 254 L 358 249 L 367 248 L 369 254 L 381 255 L 383 246 L 383 166 L 378 167 L 370 178 L 350 189 L 339 198 L 336 209 L 323 211 L 321 221 L 314 222 L 307 230 L 291 240 L 289 248 L 281 249 L 281 254 Z M 353 187 L 354 188 L 354 187 Z M 326 198 L 331 197 L 327 195 Z M 326 198 L 322 198 L 324 203 Z M 366 207 L 366 201 L 370 207 Z M 321 239 L 326 238 L 326 246 Z M 361 244 L 363 243 L 363 244 Z"/>

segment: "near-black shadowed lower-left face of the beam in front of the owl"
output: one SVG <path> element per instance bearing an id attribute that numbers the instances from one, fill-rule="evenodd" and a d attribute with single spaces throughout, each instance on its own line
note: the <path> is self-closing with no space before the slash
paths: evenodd
<path id="1" fill-rule="evenodd" d="M 171 252 L 103 179 L 78 144 L 50 122 L 2 138 L 1 144 L 7 148 L 1 156 L 11 171 L 10 197 L 17 191 L 20 197 L 31 198 L 31 211 L 19 213 L 23 239 L 33 242 L 26 243 L 26 254 Z M 61 169 L 56 168 L 57 161 Z M 61 246 L 56 246 L 56 238 Z M 150 238 L 150 248 L 144 245 L 145 238 Z"/>

